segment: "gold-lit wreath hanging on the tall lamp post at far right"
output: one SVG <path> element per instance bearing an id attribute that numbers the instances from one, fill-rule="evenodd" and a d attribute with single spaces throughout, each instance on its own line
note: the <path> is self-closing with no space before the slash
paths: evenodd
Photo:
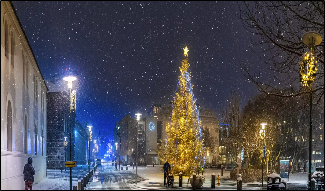
<path id="1" fill-rule="evenodd" d="M 305 68 L 307 72 L 305 74 Z M 315 60 L 314 54 L 306 52 L 300 62 L 300 81 L 304 86 L 308 86 L 315 80 L 317 72 L 317 61 Z"/>

